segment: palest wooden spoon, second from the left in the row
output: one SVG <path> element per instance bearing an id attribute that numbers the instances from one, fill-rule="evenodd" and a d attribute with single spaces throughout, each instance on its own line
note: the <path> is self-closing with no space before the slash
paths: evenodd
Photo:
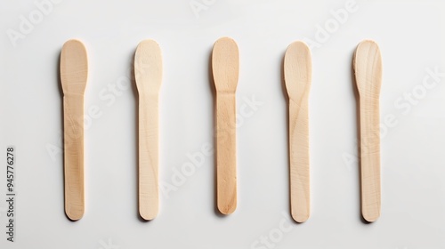
<path id="1" fill-rule="evenodd" d="M 134 56 L 134 74 L 139 92 L 139 213 L 146 221 L 158 215 L 158 125 L 162 54 L 153 40 L 142 41 Z"/>

